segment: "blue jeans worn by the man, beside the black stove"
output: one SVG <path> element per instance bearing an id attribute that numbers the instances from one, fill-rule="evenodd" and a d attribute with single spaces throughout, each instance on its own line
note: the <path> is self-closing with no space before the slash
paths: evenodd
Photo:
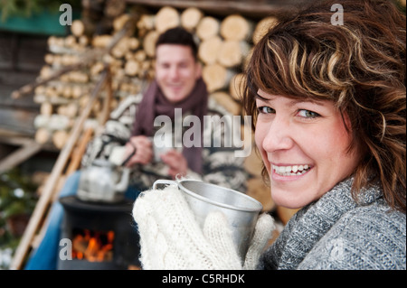
<path id="1" fill-rule="evenodd" d="M 60 198 L 76 194 L 80 181 L 80 171 L 73 172 L 65 181 L 60 192 Z M 136 200 L 140 191 L 134 187 L 129 187 L 125 197 L 129 200 Z M 60 245 L 60 235 L 63 219 L 63 207 L 60 201 L 54 201 L 50 210 L 47 229 L 40 246 L 33 251 L 25 270 L 56 270 L 58 263 L 58 252 Z"/>

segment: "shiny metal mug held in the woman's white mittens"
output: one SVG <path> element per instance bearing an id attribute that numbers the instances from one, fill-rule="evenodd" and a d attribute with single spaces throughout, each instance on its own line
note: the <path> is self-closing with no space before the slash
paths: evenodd
<path id="1" fill-rule="evenodd" d="M 243 262 L 251 243 L 257 219 L 263 209 L 258 200 L 237 190 L 221 187 L 204 181 L 157 180 L 153 184 L 176 185 L 183 191 L 185 200 L 194 213 L 201 228 L 205 218 L 213 211 L 220 211 L 232 229 L 232 240 Z"/>

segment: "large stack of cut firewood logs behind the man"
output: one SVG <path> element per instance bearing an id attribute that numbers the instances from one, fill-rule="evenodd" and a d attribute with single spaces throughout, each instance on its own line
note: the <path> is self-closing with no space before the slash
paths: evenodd
<path id="1" fill-rule="evenodd" d="M 139 7 L 130 7 L 126 13 L 120 11 L 115 11 L 114 17 L 110 15 L 110 29 L 106 30 L 109 33 L 96 33 L 96 25 L 82 17 L 72 23 L 70 35 L 49 38 L 50 52 L 45 55 L 46 65 L 40 79 L 50 78 L 58 70 L 84 61 L 84 55 L 103 51 L 110 45 L 114 35 L 126 23 L 130 23 L 129 33 L 110 47 L 109 53 L 101 53 L 92 60 L 85 59 L 86 65 L 80 65 L 80 69 L 64 73 L 35 89 L 34 100 L 41 103 L 41 113 L 34 123 L 38 142 L 50 142 L 62 148 L 75 118 L 85 107 L 106 64 L 109 64 L 111 72 L 111 109 L 128 95 L 141 92 L 143 84 L 154 78 L 155 42 L 158 35 L 175 26 L 185 27 L 194 34 L 199 44 L 198 57 L 203 64 L 203 78 L 210 97 L 215 98 L 233 115 L 242 116 L 240 98 L 245 80 L 243 70 L 253 45 L 270 25 L 276 23 L 275 18 L 267 17 L 259 22 L 240 14 L 219 18 L 193 7 L 181 11 L 164 6 L 156 13 L 149 13 Z M 98 124 L 104 97 L 106 93 L 102 91 L 88 119 L 89 125 Z M 242 125 L 241 129 L 251 127 Z M 243 135 L 252 134 L 241 132 Z M 252 136 L 244 141 L 252 142 Z M 264 196 L 260 195 L 264 195 L 267 188 L 260 179 L 260 158 L 254 152 L 254 146 L 252 151 L 245 163 L 247 171 L 253 176 L 248 182 L 248 190 L 254 197 L 261 198 Z M 270 197 L 261 202 L 264 209 L 273 206 Z"/>

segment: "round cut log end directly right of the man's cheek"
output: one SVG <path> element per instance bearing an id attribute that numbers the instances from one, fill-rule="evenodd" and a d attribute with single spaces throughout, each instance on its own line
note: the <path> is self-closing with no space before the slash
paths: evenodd
<path id="1" fill-rule="evenodd" d="M 209 92 L 227 88 L 234 74 L 233 70 L 226 69 L 218 63 L 206 65 L 202 71 L 202 76 Z"/>

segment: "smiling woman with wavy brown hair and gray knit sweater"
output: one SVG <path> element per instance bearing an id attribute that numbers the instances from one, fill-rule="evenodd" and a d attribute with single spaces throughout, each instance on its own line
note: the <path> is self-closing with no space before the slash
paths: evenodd
<path id="1" fill-rule="evenodd" d="M 332 5 L 282 19 L 247 69 L 271 198 L 299 209 L 260 268 L 405 269 L 405 16 L 342 1 L 334 25 Z"/>

